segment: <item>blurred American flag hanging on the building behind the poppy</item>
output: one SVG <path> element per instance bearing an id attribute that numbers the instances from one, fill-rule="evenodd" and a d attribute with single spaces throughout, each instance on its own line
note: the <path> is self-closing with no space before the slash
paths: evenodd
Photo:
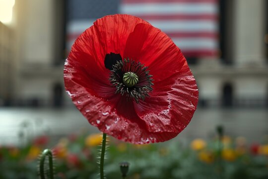
<path id="1" fill-rule="evenodd" d="M 93 3 L 93 0 L 88 1 Z M 111 2 L 105 0 L 100 5 L 101 9 L 105 11 L 103 6 L 106 6 L 111 10 L 109 4 L 105 5 L 109 1 Z M 116 0 L 115 3 L 112 3 L 113 13 L 132 14 L 147 20 L 171 37 L 186 57 L 217 56 L 218 0 Z M 100 9 L 97 5 L 93 8 Z M 97 17 L 103 15 L 106 15 L 106 12 L 95 14 Z M 68 46 L 70 47 L 75 38 L 95 20 L 89 17 L 69 21 Z"/>

